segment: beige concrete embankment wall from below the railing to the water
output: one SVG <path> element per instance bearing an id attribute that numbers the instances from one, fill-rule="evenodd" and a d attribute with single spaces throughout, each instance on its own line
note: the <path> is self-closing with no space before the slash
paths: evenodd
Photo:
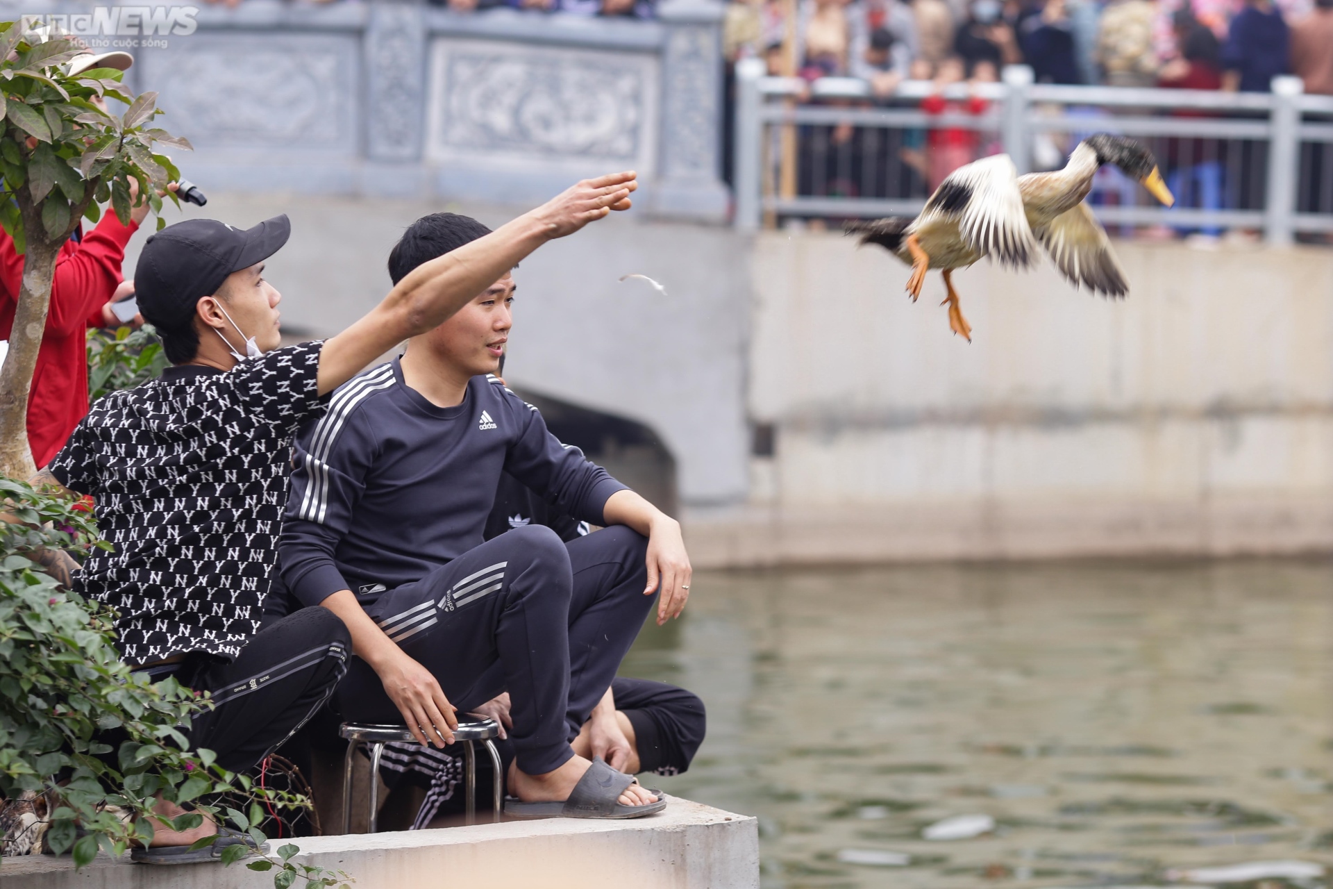
<path id="1" fill-rule="evenodd" d="M 1333 548 L 1333 253 L 1117 243 L 1130 296 L 1049 265 L 932 275 L 830 233 L 754 257 L 750 506 L 706 564 Z"/>

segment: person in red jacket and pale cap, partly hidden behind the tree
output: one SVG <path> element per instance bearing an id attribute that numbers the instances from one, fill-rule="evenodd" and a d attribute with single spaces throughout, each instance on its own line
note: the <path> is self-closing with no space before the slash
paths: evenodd
<path id="1" fill-rule="evenodd" d="M 71 67 L 129 68 L 125 52 L 76 56 Z M 79 421 L 88 413 L 88 351 L 85 331 L 115 323 L 107 309 L 120 285 L 125 244 L 148 215 L 148 203 L 131 212 L 123 225 L 108 208 L 101 221 L 87 235 L 80 227 L 60 248 L 56 275 L 51 284 L 51 308 L 41 335 L 37 367 L 28 389 L 28 444 L 37 468 L 45 466 L 65 444 Z M 19 305 L 23 255 L 13 239 L 0 232 L 0 340 L 9 339 Z"/>

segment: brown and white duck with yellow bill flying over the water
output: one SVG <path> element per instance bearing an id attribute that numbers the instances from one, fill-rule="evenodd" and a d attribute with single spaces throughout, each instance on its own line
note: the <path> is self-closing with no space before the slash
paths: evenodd
<path id="1" fill-rule="evenodd" d="M 949 329 L 972 341 L 952 273 L 989 256 L 1010 268 L 1028 268 L 1040 243 L 1060 272 L 1093 293 L 1129 292 L 1110 240 L 1082 203 L 1105 164 L 1120 167 L 1157 200 L 1176 203 L 1152 152 L 1133 139 L 1097 133 L 1078 143 L 1064 169 L 1018 176 L 1008 155 L 993 155 L 953 171 L 926 200 L 920 216 L 890 216 L 846 224 L 861 244 L 878 244 L 912 267 L 908 293 L 921 295 L 930 268 L 944 275 Z"/>

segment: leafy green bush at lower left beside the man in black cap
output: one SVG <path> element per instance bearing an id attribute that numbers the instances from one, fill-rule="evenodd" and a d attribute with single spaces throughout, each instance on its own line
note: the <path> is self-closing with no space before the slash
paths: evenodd
<path id="1" fill-rule="evenodd" d="M 108 546 L 87 501 L 3 477 L 0 497 L 23 522 L 0 522 L 0 833 L 17 846 L 11 853 L 45 846 L 72 852 L 83 866 L 99 849 L 123 854 L 131 842 L 147 844 L 155 824 L 199 826 L 201 813 L 228 818 L 263 844 L 261 800 L 307 801 L 253 786 L 215 765 L 209 750 L 183 753 L 189 717 L 209 705 L 208 697 L 172 678 L 155 684 L 132 673 L 116 652 L 111 613 L 43 572 L 44 552 Z M 195 812 L 167 820 L 152 813 L 157 797 Z M 219 798 L 245 800 L 248 810 L 207 805 Z M 297 877 L 327 886 L 347 881 L 293 864 L 297 852 L 285 845 L 276 858 L 248 866 L 275 869 L 279 889 Z M 221 858 L 231 864 L 247 854 L 244 845 L 232 845 Z"/>

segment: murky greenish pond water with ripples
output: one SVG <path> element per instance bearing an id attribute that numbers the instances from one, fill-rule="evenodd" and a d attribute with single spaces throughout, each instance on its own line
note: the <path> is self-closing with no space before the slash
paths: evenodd
<path id="1" fill-rule="evenodd" d="M 766 888 L 1150 886 L 1333 864 L 1330 565 L 817 569 L 693 588 L 623 673 L 704 698 L 694 765 L 653 782 L 758 816 Z M 957 833 L 993 829 L 924 838 L 958 816 L 974 817 Z M 1194 876 L 1328 885 L 1286 868 Z"/>

